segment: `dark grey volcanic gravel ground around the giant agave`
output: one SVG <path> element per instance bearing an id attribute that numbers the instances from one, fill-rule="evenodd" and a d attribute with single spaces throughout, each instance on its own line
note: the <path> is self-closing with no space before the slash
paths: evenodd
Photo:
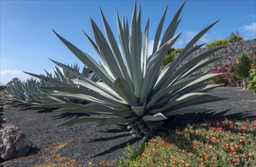
<path id="1" fill-rule="evenodd" d="M 219 110 L 182 117 L 256 118 L 256 101 L 250 90 L 217 88 L 210 94 L 227 98 L 208 104 Z M 123 124 L 99 128 L 96 122 L 90 122 L 56 127 L 67 115 L 14 107 L 3 113 L 6 123 L 21 128 L 33 143 L 27 156 L 5 161 L 3 166 L 116 166 L 128 143 L 139 148 L 144 142 L 132 137 Z"/>

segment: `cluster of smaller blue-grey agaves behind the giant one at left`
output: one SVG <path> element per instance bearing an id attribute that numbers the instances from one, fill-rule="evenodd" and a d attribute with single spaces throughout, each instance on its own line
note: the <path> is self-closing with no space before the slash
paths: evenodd
<path id="1" fill-rule="evenodd" d="M 84 67 L 82 73 L 80 73 L 77 64 L 64 66 L 69 68 L 69 71 L 75 71 L 83 77 L 90 77 L 93 81 L 99 80 L 99 77 L 95 74 L 90 74 L 91 71 L 86 67 Z M 38 77 L 40 78 L 40 81 L 33 78 L 26 81 L 17 79 L 12 80 L 7 84 L 5 90 L 2 91 L 2 99 L 5 99 L 6 102 L 14 102 L 18 105 L 31 106 L 35 108 L 46 108 L 44 105 L 58 102 L 88 103 L 85 100 L 79 99 L 69 99 L 64 97 L 55 98 L 49 96 L 51 91 L 40 89 L 41 87 L 56 87 L 59 85 L 65 87 L 81 87 L 80 85 L 73 83 L 70 79 L 75 78 L 76 75 L 65 71 L 65 69 L 61 71 L 58 67 L 55 67 L 54 74 L 46 71 L 46 75 L 41 74 Z"/>

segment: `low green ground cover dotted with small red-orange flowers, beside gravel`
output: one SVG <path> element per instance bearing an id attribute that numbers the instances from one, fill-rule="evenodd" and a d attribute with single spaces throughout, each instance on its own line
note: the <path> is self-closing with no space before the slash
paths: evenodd
<path id="1" fill-rule="evenodd" d="M 255 146 L 254 118 L 204 121 L 128 146 L 120 166 L 254 166 Z"/>

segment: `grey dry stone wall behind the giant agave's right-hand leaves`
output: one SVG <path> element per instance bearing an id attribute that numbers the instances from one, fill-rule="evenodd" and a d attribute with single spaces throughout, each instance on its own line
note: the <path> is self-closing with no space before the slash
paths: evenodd
<path id="1" fill-rule="evenodd" d="M 207 50 L 207 48 L 198 49 L 196 52 L 191 54 L 188 58 L 185 58 L 185 61 L 182 62 L 180 67 L 182 65 L 185 65 L 185 63 L 187 63 L 191 59 L 197 57 L 198 54 L 201 54 L 202 52 L 204 52 L 206 50 Z M 229 43 L 223 49 L 220 49 L 218 52 L 215 52 L 215 53 L 213 53 L 213 55 L 210 55 L 211 58 L 218 57 L 218 56 L 222 56 L 223 58 L 221 58 L 219 61 L 216 61 L 210 65 L 207 65 L 207 67 L 202 70 L 204 70 L 204 71 L 212 70 L 213 68 L 216 68 L 219 65 L 225 65 L 226 63 L 228 63 L 230 61 L 229 59 L 231 59 L 231 61 L 235 60 L 236 56 L 239 55 L 239 53 L 241 53 L 243 51 L 256 52 L 256 39 L 240 41 L 237 43 Z M 179 54 L 177 54 L 176 56 L 179 56 Z"/>

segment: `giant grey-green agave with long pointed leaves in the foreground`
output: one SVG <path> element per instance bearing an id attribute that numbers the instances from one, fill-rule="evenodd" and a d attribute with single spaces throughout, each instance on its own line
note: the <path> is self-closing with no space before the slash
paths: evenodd
<path id="1" fill-rule="evenodd" d="M 119 49 L 103 11 L 100 10 L 106 36 L 91 19 L 94 41 L 87 33 L 84 34 L 93 49 L 100 55 L 102 60 L 100 64 L 54 31 L 65 46 L 102 80 L 102 82 L 94 82 L 81 77 L 74 78 L 72 81 L 82 87 L 43 88 L 54 91 L 54 93 L 50 93 L 50 96 L 90 101 L 87 105 L 72 102 L 49 104 L 49 107 L 58 106 L 58 108 L 61 108 L 56 110 L 58 112 L 90 114 L 87 117 L 73 118 L 62 124 L 68 125 L 88 121 L 99 121 L 98 125 L 126 123 L 132 134 L 149 137 L 161 127 L 164 120 L 172 115 L 213 110 L 201 106 L 201 104 L 222 99 L 207 93 L 208 90 L 220 86 L 208 81 L 222 74 L 208 74 L 199 70 L 219 59 L 209 58 L 209 56 L 223 46 L 208 49 L 182 67 L 179 68 L 179 65 L 192 52 L 204 46 L 204 44 L 199 46 L 194 46 L 194 44 L 216 22 L 201 30 L 185 46 L 175 61 L 166 65 L 163 70 L 161 69 L 164 55 L 182 34 L 175 35 L 175 30 L 181 20 L 179 15 L 184 5 L 185 2 L 173 17 L 165 33 L 163 33 L 163 38 L 160 39 L 168 8 L 168 5 L 166 6 L 156 30 L 153 52 L 150 53 L 150 56 L 147 56 L 149 20 L 147 20 L 143 33 L 141 30 L 141 6 L 137 11 L 136 3 L 130 28 L 128 27 L 128 20 L 123 17 L 121 21 L 119 14 L 117 14 L 117 27 L 122 49 Z M 55 63 L 65 68 L 61 63 L 57 61 Z M 68 71 L 68 69 L 66 70 Z M 33 76 L 36 77 L 36 75 Z"/>

